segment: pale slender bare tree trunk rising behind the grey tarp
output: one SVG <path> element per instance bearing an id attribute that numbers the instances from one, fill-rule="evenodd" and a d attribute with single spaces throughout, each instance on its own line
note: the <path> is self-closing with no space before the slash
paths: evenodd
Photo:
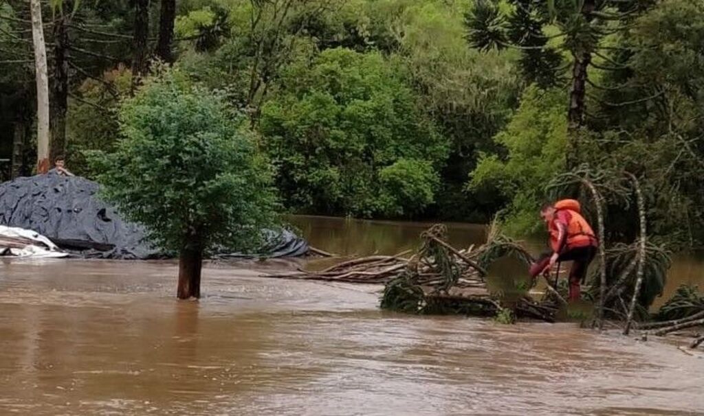
<path id="1" fill-rule="evenodd" d="M 49 74 L 46 69 L 46 44 L 42 25 L 42 4 L 30 0 L 34 70 L 37 78 L 37 173 L 49 171 Z"/>

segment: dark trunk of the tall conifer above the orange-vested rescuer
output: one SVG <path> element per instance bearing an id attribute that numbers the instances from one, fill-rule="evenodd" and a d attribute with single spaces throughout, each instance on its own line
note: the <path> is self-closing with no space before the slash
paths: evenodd
<path id="1" fill-rule="evenodd" d="M 584 0 L 582 4 L 582 14 L 587 22 L 593 20 L 595 0 Z M 570 109 L 567 111 L 567 169 L 571 170 L 579 164 L 579 133 L 584 126 L 584 115 L 586 105 L 587 69 L 591 64 L 591 53 L 593 51 L 572 51 L 574 64 L 572 65 L 572 85 L 570 86 Z"/>

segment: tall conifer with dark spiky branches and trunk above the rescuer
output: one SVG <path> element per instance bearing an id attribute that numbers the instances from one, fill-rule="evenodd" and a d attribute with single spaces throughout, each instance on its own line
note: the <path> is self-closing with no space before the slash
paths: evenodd
<path id="1" fill-rule="evenodd" d="M 589 68 L 609 70 L 603 40 L 623 33 L 629 22 L 653 2 L 648 0 L 477 0 L 467 13 L 467 29 L 477 48 L 517 48 L 527 78 L 541 86 L 560 85 L 569 56 L 569 105 L 566 110 L 570 145 L 567 167 L 579 164 L 580 142 L 586 126 L 586 86 Z M 553 41 L 554 40 L 554 41 Z M 610 49 L 609 49 L 610 50 Z M 595 58 L 601 58 L 598 63 Z M 604 64 L 604 61 L 607 63 Z"/>

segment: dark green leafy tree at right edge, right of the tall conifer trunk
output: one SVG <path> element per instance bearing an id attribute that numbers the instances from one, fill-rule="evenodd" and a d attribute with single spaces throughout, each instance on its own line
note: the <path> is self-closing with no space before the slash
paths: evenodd
<path id="1" fill-rule="evenodd" d="M 610 58 L 620 70 L 606 72 L 606 88 L 593 96 L 591 127 L 601 140 L 590 154 L 639 176 L 653 234 L 697 245 L 704 240 L 704 4 L 661 1 L 617 42 Z M 629 237 L 637 228 L 611 222 Z"/>

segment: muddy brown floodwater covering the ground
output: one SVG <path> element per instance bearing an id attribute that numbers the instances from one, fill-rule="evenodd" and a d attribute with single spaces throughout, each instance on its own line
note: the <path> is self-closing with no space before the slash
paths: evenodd
<path id="1" fill-rule="evenodd" d="M 398 252 L 425 226 L 294 221 L 341 254 Z M 0 415 L 704 415 L 704 358 L 672 343 L 404 316 L 379 311 L 379 287 L 258 277 L 304 264 L 208 264 L 205 297 L 180 302 L 172 262 L 2 261 Z"/>

